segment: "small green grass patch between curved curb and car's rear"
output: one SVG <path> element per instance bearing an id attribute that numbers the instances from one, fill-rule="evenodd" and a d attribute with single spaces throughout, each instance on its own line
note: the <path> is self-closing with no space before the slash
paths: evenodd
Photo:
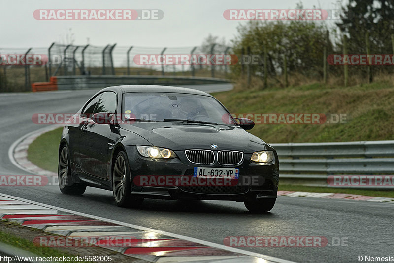
<path id="1" fill-rule="evenodd" d="M 38 167 L 58 172 L 59 142 L 63 128 L 60 127 L 37 137 L 28 148 L 28 159 Z"/>

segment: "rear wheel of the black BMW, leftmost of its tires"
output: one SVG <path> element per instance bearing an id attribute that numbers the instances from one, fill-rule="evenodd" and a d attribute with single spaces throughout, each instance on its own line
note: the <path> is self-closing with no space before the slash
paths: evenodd
<path id="1" fill-rule="evenodd" d="M 86 185 L 74 183 L 71 179 L 71 161 L 67 145 L 60 151 L 58 164 L 59 189 L 63 194 L 82 195 Z"/>

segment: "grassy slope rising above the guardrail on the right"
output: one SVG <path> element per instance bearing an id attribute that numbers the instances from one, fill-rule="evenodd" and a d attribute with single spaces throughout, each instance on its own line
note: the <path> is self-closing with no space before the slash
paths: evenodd
<path id="1" fill-rule="evenodd" d="M 394 139 L 394 88 L 387 82 L 352 87 L 314 83 L 265 90 L 237 87 L 214 96 L 238 114 L 346 114 L 343 124 L 256 124 L 250 132 L 267 143 Z"/>

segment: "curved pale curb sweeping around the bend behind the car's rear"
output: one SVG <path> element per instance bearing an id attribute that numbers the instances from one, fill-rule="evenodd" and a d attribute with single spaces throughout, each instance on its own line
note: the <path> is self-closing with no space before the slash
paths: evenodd
<path id="1" fill-rule="evenodd" d="M 42 129 L 30 132 L 18 140 L 16 140 L 11 147 L 8 149 L 8 157 L 11 160 L 11 163 L 17 166 L 18 168 L 27 171 L 29 173 L 33 173 L 35 175 L 43 175 L 43 176 L 58 176 L 56 173 L 44 170 L 32 162 L 28 160 L 28 148 L 29 145 L 41 134 L 45 132 L 49 132 L 55 130 L 56 128 L 61 127 L 61 125 L 51 125 L 48 127 L 44 127 Z"/>

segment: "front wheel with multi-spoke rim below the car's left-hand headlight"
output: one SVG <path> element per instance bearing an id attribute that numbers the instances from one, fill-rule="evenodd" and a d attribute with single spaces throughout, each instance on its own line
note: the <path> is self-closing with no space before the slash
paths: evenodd
<path id="1" fill-rule="evenodd" d="M 129 162 L 124 151 L 116 156 L 112 172 L 112 189 L 115 203 L 119 207 L 139 207 L 144 200 L 131 194 Z"/>

